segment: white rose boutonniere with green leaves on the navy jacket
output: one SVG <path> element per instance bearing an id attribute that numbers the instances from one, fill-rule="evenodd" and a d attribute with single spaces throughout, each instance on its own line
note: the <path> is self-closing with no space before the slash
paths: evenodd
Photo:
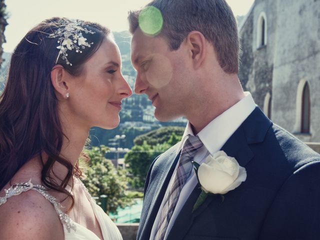
<path id="1" fill-rule="evenodd" d="M 246 179 L 245 168 L 240 166 L 234 157 L 224 151 L 217 151 L 213 156 L 208 155 L 201 164 L 192 161 L 201 193 L 197 198 L 192 212 L 205 200 L 208 194 L 223 194 L 238 187 Z"/>

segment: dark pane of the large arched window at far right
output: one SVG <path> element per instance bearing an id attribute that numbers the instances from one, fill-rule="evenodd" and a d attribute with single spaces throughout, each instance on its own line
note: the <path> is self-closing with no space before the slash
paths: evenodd
<path id="1" fill-rule="evenodd" d="M 302 91 L 302 104 L 301 104 L 301 132 L 310 132 L 310 90 L 309 84 L 305 82 Z"/>

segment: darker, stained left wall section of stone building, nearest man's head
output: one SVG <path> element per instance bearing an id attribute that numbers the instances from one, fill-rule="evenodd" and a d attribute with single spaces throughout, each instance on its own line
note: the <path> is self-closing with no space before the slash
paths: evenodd
<path id="1" fill-rule="evenodd" d="M 265 1 L 254 2 L 254 7 L 248 13 L 246 21 L 239 30 L 241 53 L 239 80 L 245 91 L 250 91 L 255 103 L 263 109 L 264 97 L 272 90 L 272 45 L 268 43 L 262 47 L 256 44 L 256 29 L 258 16 L 261 11 L 267 11 L 269 7 Z M 271 41 L 269 21 L 266 22 L 267 42 Z M 272 95 L 272 94 L 271 94 Z"/>

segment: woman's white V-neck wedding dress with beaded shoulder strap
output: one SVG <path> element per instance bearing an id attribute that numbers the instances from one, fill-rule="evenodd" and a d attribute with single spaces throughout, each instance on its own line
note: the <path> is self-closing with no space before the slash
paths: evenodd
<path id="1" fill-rule="evenodd" d="M 103 240 L 122 239 L 121 234 L 114 222 L 112 222 L 110 217 L 102 210 L 102 208 L 95 203 L 94 199 L 88 193 L 82 182 L 81 184 L 86 197 L 91 203 L 94 215 L 100 225 Z M 67 214 L 62 212 L 61 205 L 57 202 L 55 197 L 49 195 L 45 190 L 45 187 L 41 185 L 33 185 L 31 183 L 31 179 L 28 182 L 17 183 L 14 185 L 14 187 L 11 186 L 9 189 L 5 189 L 5 196 L 0 197 L 0 205 L 4 204 L 9 197 L 18 195 L 31 189 L 42 194 L 54 206 L 54 209 L 58 214 L 63 226 L 65 240 L 99 240 L 99 238 L 92 231 L 74 222 Z"/>

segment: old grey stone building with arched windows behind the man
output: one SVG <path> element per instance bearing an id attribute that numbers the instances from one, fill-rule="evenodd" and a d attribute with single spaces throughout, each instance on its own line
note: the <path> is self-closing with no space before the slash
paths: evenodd
<path id="1" fill-rule="evenodd" d="M 244 90 L 273 122 L 320 142 L 320 0 L 255 0 L 239 35 Z"/>

